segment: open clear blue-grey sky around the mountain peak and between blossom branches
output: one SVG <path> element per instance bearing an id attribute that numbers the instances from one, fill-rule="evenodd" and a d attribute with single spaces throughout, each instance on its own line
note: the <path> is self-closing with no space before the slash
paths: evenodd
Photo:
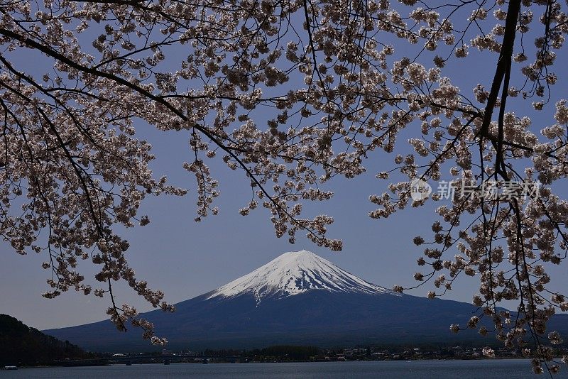
<path id="1" fill-rule="evenodd" d="M 561 58 L 559 61 L 562 61 Z M 471 89 L 478 82 L 490 86 L 496 59 L 496 54 L 481 54 L 477 60 L 454 62 L 444 70 L 444 75 L 451 76 L 452 82 L 470 96 Z M 466 65 L 461 66 L 461 62 Z M 556 94 L 564 92 L 565 95 L 567 86 L 562 82 L 562 75 L 559 76 L 560 82 L 554 90 Z M 553 102 L 548 105 L 549 109 L 552 106 Z M 532 114 L 530 110 L 525 111 Z M 550 115 L 549 110 L 535 116 L 535 133 L 552 123 Z M 545 116 L 547 118 L 542 119 Z M 168 175 L 173 184 L 190 189 L 189 194 L 182 198 L 148 198 L 139 213 L 149 214 L 151 224 L 124 233 L 131 243 L 127 258 L 138 278 L 148 280 L 155 289 L 163 290 L 168 302 L 180 302 L 214 290 L 285 251 L 301 249 L 317 253 L 377 285 L 415 285 L 413 273 L 418 270 L 415 262 L 422 255 L 422 248 L 414 246 L 412 240 L 417 235 L 427 239 L 432 236 L 430 226 L 436 219 L 434 209 L 440 203 L 429 202 L 420 209 L 405 209 L 388 219 L 368 217 L 368 212 L 375 209 L 368 201 L 368 195 L 380 194 L 387 185 L 386 181 L 377 180 L 375 175 L 394 166 L 394 155 L 376 153 L 366 162 L 366 174 L 354 180 L 332 180 L 329 184 L 329 189 L 335 191 L 332 200 L 305 204 L 306 215 L 329 214 L 335 217 L 329 236 L 342 238 L 344 250 L 332 253 L 318 248 L 300 234 L 295 245 L 290 245 L 287 238 L 276 238 L 270 216 L 263 208 L 249 216 L 241 216 L 238 210 L 249 201 L 250 187 L 241 172 L 232 172 L 223 163 L 212 165 L 213 175 L 219 180 L 222 192 L 217 203 L 219 215 L 209 216 L 196 224 L 193 221 L 195 178 L 182 169 L 182 163 L 191 159 L 187 131 L 162 132 L 143 123 L 138 123 L 137 128 L 141 138 L 147 138 L 154 146 L 157 160 L 153 168 L 157 175 Z M 408 153 L 410 150 L 405 147 L 405 138 L 420 133 L 419 126 L 404 133 L 408 135 L 400 137 L 399 148 L 401 153 Z M 566 191 L 562 189 L 562 192 Z M 2 242 L 0 251 L 1 313 L 11 314 L 38 329 L 85 324 L 106 317 L 107 299 L 80 295 L 73 290 L 55 300 L 41 297 L 48 288 L 45 280 L 49 272 L 40 267 L 44 256 L 18 256 Z M 79 266 L 87 278 L 94 273 L 89 261 L 80 262 Z M 553 279 L 555 287 L 568 287 L 566 265 L 552 273 L 557 274 Z M 410 293 L 423 296 L 431 289 L 427 284 Z M 476 290 L 476 279 L 464 277 L 446 298 L 470 302 Z M 122 282 L 119 282 L 116 292 L 121 303 L 134 304 L 140 311 L 151 309 Z"/>

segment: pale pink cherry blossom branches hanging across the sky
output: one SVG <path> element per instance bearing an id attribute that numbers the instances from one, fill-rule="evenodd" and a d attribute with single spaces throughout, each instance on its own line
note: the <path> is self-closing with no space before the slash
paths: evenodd
<path id="1" fill-rule="evenodd" d="M 218 212 L 219 183 L 207 163 L 221 159 L 250 180 L 253 198 L 241 214 L 261 205 L 276 236 L 291 243 L 302 231 L 341 250 L 326 235 L 332 217 L 303 218 L 302 202 L 332 197 L 320 188 L 334 177 L 371 170 L 391 177 L 387 192 L 370 196 L 375 219 L 441 204 L 432 241 L 414 240 L 428 246 L 417 261 L 428 270 L 415 274 L 420 285 L 434 282 L 428 296 L 444 295 L 460 274 L 479 278 L 479 314 L 452 331 L 493 331 L 535 357 L 535 372 L 544 363 L 555 373 L 550 344 L 562 340 L 546 324 L 568 301 L 548 288 L 547 268 L 568 249 L 568 203 L 555 194 L 568 174 L 568 108 L 554 91 L 562 77 L 553 71 L 568 32 L 566 6 L 5 1 L 0 233 L 17 253 L 45 254 L 48 298 L 70 288 L 88 295 L 77 261 L 99 265 L 93 293 L 109 297 L 116 326 L 131 322 L 162 343 L 112 292 L 113 282 L 126 280 L 154 307 L 173 310 L 162 292 L 136 278 L 126 261 L 129 243 L 116 231 L 148 224 L 138 214 L 146 196 L 186 193 L 150 170 L 151 145 L 136 137 L 140 123 L 190 136 L 184 167 L 196 179 L 196 221 Z M 37 64 L 26 69 L 23 60 Z M 481 60 L 479 72 L 490 75 L 479 75 L 474 88 L 458 87 L 448 67 Z M 408 133 L 410 150 L 397 143 Z M 394 162 L 365 165 L 381 154 Z M 452 188 L 447 202 L 438 193 L 413 198 L 416 180 L 444 178 Z M 484 190 L 488 184 L 495 191 Z M 522 196 L 510 190 L 514 184 L 538 192 Z M 501 310 L 502 300 L 517 302 L 516 312 Z"/>

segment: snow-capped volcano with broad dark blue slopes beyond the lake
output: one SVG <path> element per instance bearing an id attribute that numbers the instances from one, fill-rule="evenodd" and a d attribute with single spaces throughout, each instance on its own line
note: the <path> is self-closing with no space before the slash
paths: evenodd
<path id="1" fill-rule="evenodd" d="M 476 314 L 471 304 L 400 295 L 309 251 L 284 253 L 175 307 L 173 314 L 156 310 L 142 315 L 173 350 L 495 341 L 473 330 L 449 331 L 450 324 L 466 324 Z M 553 318 L 550 327 L 567 331 L 568 316 Z M 108 320 L 45 333 L 92 351 L 153 349 L 136 328 L 119 333 Z"/>

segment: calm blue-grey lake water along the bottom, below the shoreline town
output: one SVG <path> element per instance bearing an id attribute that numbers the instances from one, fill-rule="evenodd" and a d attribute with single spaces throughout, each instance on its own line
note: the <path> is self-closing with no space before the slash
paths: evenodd
<path id="1" fill-rule="evenodd" d="M 562 367 L 555 378 L 568 378 Z M 178 363 L 73 368 L 20 368 L 0 370 L 11 378 L 210 378 L 210 379 L 343 379 L 343 378 L 542 378 L 523 359 L 482 361 L 373 361 L 322 363 Z"/>

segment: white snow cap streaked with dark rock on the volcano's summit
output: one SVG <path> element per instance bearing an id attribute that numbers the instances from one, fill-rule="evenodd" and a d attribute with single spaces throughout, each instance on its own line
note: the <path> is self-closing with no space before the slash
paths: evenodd
<path id="1" fill-rule="evenodd" d="M 347 273 L 310 251 L 301 250 L 283 253 L 252 273 L 217 288 L 208 299 L 251 293 L 260 302 L 263 297 L 286 297 L 315 289 L 369 294 L 393 293 Z"/>

